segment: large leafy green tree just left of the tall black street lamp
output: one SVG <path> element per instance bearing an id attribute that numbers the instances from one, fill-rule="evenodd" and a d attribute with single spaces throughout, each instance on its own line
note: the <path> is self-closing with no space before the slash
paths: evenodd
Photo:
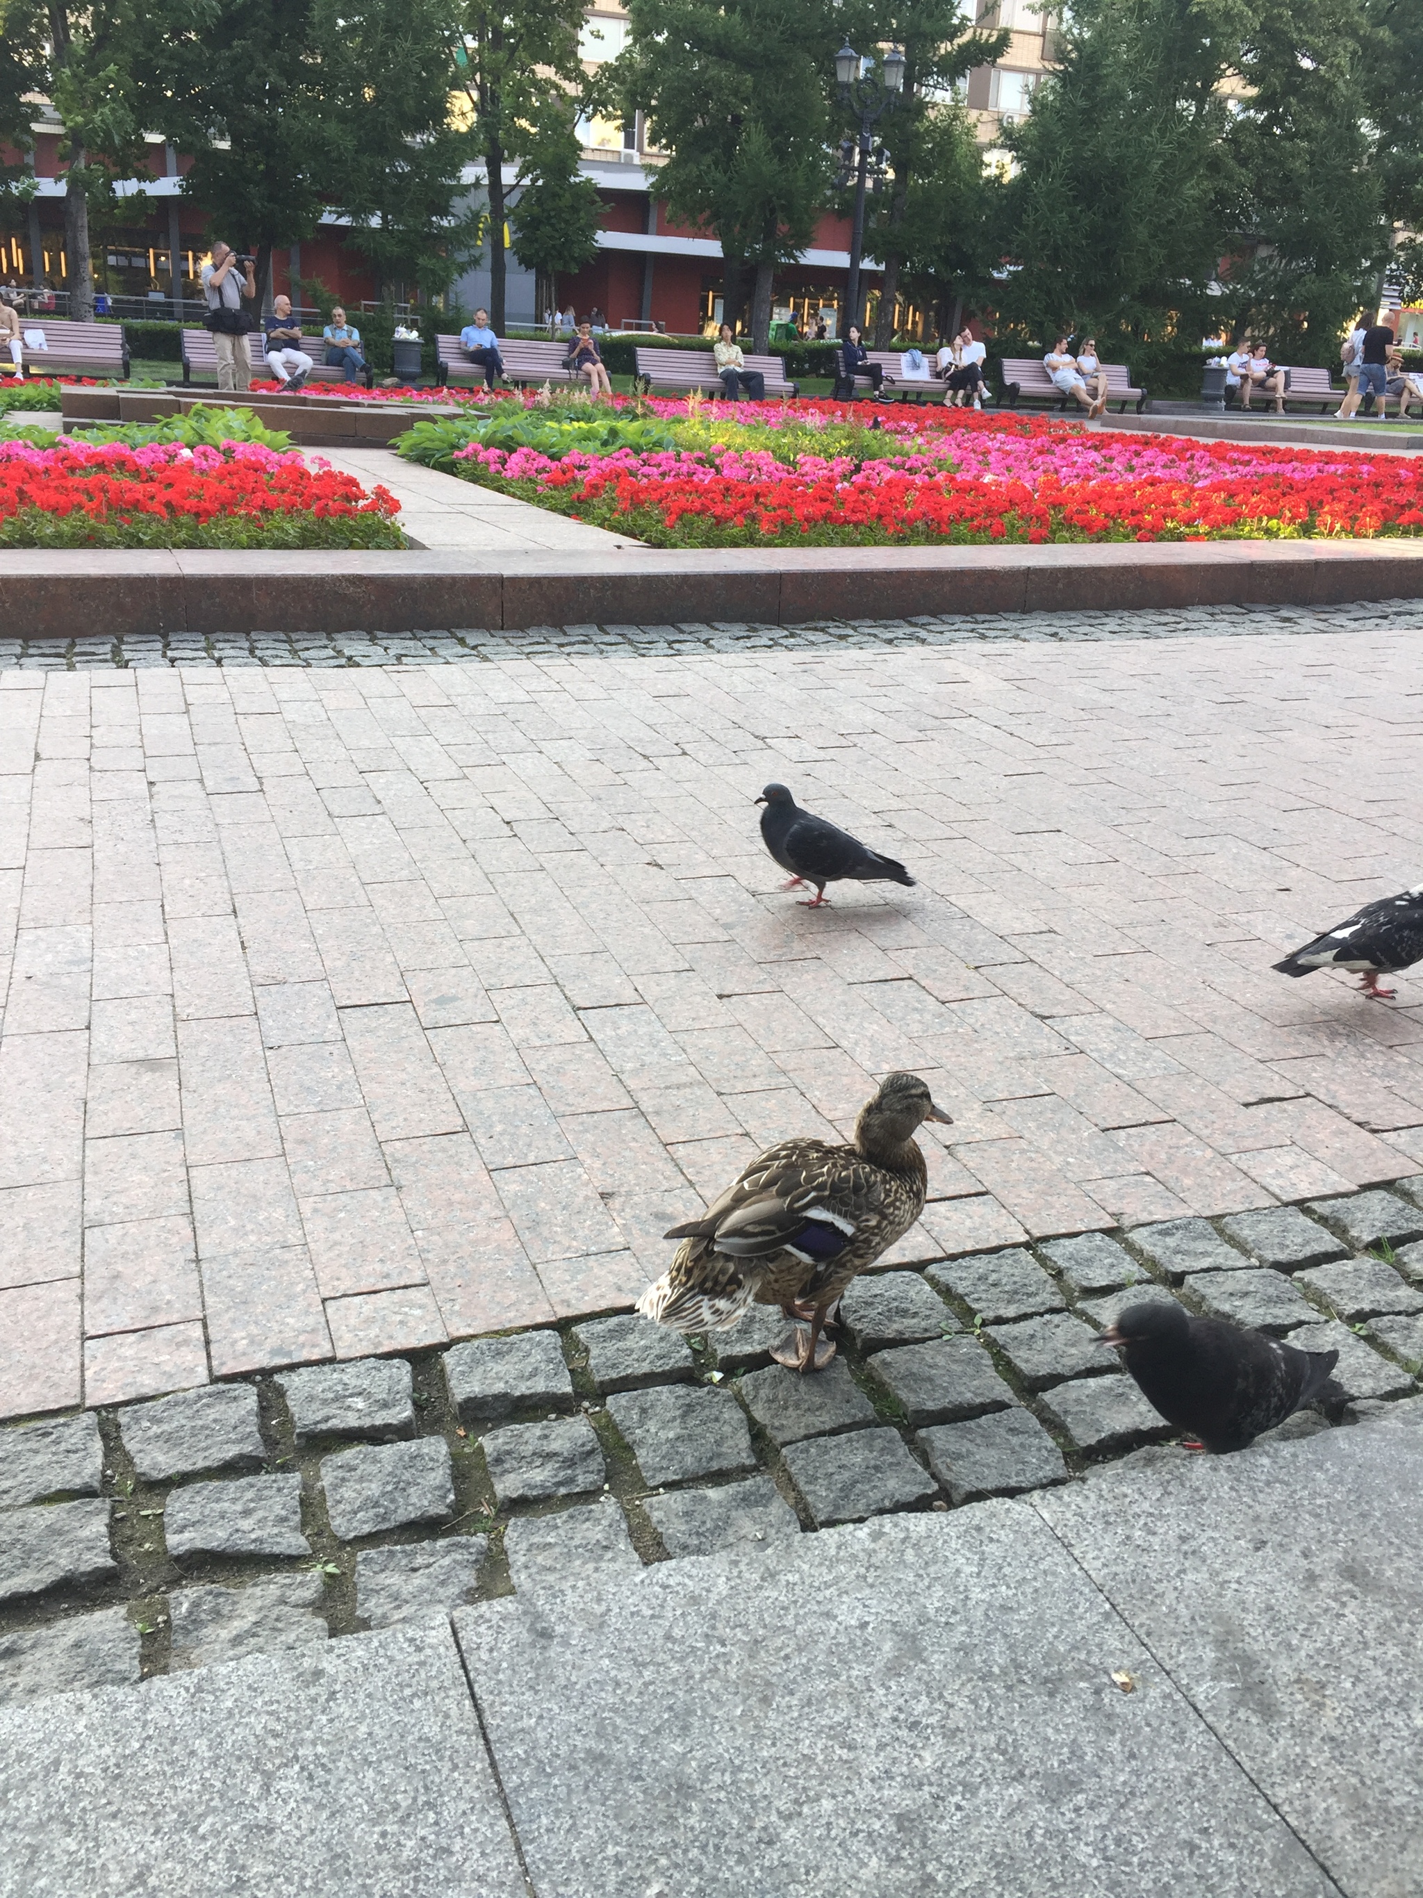
<path id="1" fill-rule="evenodd" d="M 721 239 L 730 325 L 755 270 L 751 347 L 765 351 L 776 266 L 806 249 L 829 188 L 835 19 L 823 0 L 628 0 L 628 49 L 600 78 L 672 154 L 658 173 L 672 216 Z"/>

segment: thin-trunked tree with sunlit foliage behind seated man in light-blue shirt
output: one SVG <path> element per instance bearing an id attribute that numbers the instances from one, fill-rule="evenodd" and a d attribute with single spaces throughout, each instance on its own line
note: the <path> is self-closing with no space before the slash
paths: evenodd
<path id="1" fill-rule="evenodd" d="M 588 194 L 573 184 L 582 0 L 457 0 L 448 17 L 455 21 L 452 51 L 457 53 L 457 84 L 469 102 L 474 148 L 484 161 L 490 321 L 503 330 L 508 275 L 505 228 L 510 214 L 505 165 L 516 167 L 512 188 L 533 192 L 527 209 L 527 243 L 533 249 L 541 235 L 548 237 L 556 228 L 577 239 L 586 218 L 581 203 L 588 203 Z M 569 256 L 577 252 L 575 241 Z"/>

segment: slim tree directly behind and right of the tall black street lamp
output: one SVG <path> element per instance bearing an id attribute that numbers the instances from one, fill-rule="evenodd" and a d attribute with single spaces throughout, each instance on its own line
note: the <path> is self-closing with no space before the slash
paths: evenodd
<path id="1" fill-rule="evenodd" d="M 852 11 L 846 25 L 854 46 L 894 42 L 905 55 L 903 93 L 878 121 L 886 188 L 875 195 L 865 224 L 865 251 L 884 266 L 875 344 L 888 349 L 907 258 L 924 258 L 933 247 L 924 241 L 930 232 L 947 235 L 945 216 L 968 209 L 968 201 L 977 197 L 977 139 L 954 87 L 973 66 L 998 59 L 1007 49 L 1009 34 L 970 28 L 962 0 L 896 0 L 888 13 L 861 0 L 859 17 Z M 973 163 L 966 165 L 970 140 Z M 943 203 L 945 195 L 951 205 Z"/>

